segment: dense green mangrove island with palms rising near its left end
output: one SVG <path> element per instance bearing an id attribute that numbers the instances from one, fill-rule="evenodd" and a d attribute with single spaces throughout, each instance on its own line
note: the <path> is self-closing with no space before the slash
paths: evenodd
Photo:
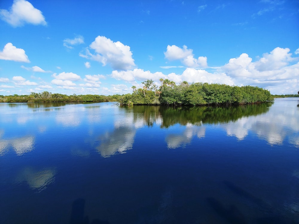
<path id="1" fill-rule="evenodd" d="M 176 85 L 168 79 L 160 79 L 158 87 L 152 79 L 142 84 L 143 88 L 132 86 L 133 93 L 120 97 L 120 103 L 126 105 L 231 105 L 250 104 L 273 100 L 269 90 L 254 86 L 229 86 L 225 84 L 208 84 L 181 82 Z"/>

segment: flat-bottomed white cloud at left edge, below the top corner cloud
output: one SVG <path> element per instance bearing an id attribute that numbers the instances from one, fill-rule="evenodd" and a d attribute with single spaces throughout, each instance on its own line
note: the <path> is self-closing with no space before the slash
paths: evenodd
<path id="1" fill-rule="evenodd" d="M 16 48 L 12 43 L 7 43 L 3 50 L 0 51 L 0 59 L 15 62 L 30 62 L 28 56 L 25 54 L 25 50 Z"/>

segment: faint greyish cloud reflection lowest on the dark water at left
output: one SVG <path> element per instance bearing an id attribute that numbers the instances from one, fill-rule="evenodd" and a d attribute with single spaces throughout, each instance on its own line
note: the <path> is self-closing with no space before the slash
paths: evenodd
<path id="1" fill-rule="evenodd" d="M 38 192 L 44 190 L 47 185 L 54 182 L 56 170 L 54 168 L 45 168 L 35 170 L 31 167 L 24 168 L 16 178 L 17 182 L 27 182 L 30 188 Z"/>

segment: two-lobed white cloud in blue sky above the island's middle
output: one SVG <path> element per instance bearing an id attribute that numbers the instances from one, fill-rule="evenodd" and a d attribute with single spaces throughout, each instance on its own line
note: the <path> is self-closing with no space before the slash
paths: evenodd
<path id="1" fill-rule="evenodd" d="M 187 67 L 208 67 L 207 57 L 200 56 L 198 59 L 194 58 L 193 50 L 188 49 L 186 45 L 183 48 L 176 45 L 168 45 L 164 55 L 169 61 L 181 60 Z"/>

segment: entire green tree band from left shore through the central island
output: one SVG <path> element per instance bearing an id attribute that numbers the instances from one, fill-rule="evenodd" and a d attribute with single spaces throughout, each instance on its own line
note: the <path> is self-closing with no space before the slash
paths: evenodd
<path id="1" fill-rule="evenodd" d="M 123 95 L 64 95 L 59 93 L 32 92 L 30 95 L 0 96 L 0 102 L 113 102 L 124 105 L 231 105 L 251 104 L 273 100 L 268 90 L 253 86 L 192 83 L 176 85 L 160 79 L 158 87 L 152 79 L 142 82 L 143 88 L 132 86 L 133 93 Z"/>

